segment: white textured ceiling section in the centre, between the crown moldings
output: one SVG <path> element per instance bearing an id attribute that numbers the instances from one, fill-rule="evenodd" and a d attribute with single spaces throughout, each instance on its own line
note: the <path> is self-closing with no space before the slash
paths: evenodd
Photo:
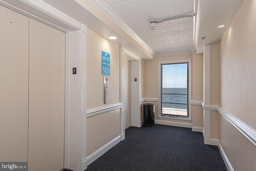
<path id="1" fill-rule="evenodd" d="M 156 30 L 150 21 L 194 14 L 194 0 L 102 0 L 156 54 L 193 48 L 194 17 L 161 22 Z"/>

